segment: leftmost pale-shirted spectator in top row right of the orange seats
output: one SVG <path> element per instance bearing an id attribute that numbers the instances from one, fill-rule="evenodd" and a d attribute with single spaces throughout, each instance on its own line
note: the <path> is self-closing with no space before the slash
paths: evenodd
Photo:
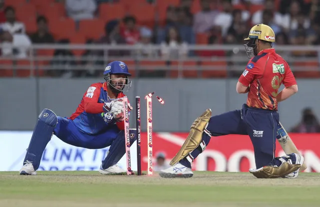
<path id="1" fill-rule="evenodd" d="M 200 0 L 201 11 L 194 15 L 193 30 L 195 33 L 203 33 L 214 26 L 214 19 L 218 11 L 210 8 L 210 0 Z"/>

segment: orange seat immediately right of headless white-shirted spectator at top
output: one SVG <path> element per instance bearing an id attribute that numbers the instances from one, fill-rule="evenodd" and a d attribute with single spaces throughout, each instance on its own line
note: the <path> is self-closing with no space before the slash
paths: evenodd
<path id="1" fill-rule="evenodd" d="M 122 19 L 126 14 L 126 9 L 122 3 L 100 3 L 99 16 L 104 21 L 112 19 Z"/>

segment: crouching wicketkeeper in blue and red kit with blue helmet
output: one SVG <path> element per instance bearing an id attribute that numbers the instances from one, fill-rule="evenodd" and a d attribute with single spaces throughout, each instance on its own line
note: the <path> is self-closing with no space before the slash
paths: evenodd
<path id="1" fill-rule="evenodd" d="M 42 154 L 55 134 L 74 146 L 99 149 L 110 146 L 102 161 L 102 174 L 123 173 L 117 165 L 125 154 L 123 91 L 128 91 L 131 74 L 122 61 L 110 62 L 104 70 L 104 82 L 93 83 L 84 93 L 76 112 L 70 117 L 57 116 L 44 109 L 38 117 L 20 174 L 36 174 Z M 128 110 L 132 107 L 128 104 Z M 130 144 L 136 140 L 135 129 L 130 130 Z"/>

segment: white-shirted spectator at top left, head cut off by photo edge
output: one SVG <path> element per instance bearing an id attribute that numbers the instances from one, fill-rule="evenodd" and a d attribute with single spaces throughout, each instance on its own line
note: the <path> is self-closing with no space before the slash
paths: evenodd
<path id="1" fill-rule="evenodd" d="M 74 20 L 92 19 L 95 17 L 96 9 L 95 0 L 66 0 L 68 16 Z"/>

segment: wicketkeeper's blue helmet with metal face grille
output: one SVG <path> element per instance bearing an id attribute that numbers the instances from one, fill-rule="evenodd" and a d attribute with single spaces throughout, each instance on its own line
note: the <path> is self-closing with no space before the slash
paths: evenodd
<path id="1" fill-rule="evenodd" d="M 123 85 L 122 89 L 117 89 L 113 83 L 110 82 L 111 74 L 124 74 L 126 75 L 126 83 Z M 112 61 L 110 62 L 103 72 L 104 79 L 109 82 L 111 89 L 115 92 L 128 91 L 131 87 L 131 80 L 128 79 L 128 76 L 131 76 L 131 73 L 128 71 L 128 66 L 122 61 Z"/>

